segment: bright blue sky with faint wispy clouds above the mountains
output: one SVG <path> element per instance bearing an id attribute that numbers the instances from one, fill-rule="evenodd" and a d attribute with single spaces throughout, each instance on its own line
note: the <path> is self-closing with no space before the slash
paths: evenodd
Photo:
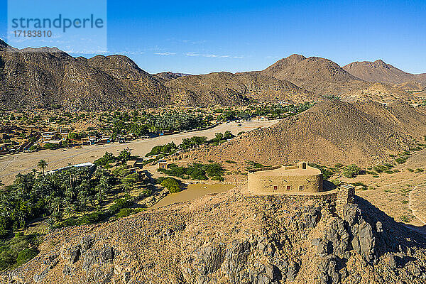
<path id="1" fill-rule="evenodd" d="M 127 55 L 147 72 L 262 70 L 293 53 L 426 72 L 426 1 L 260 2 L 109 0 L 104 54 Z"/>

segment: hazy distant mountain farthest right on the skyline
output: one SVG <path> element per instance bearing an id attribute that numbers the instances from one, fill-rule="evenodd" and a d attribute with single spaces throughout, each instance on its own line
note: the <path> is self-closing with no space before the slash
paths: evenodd
<path id="1" fill-rule="evenodd" d="M 352 62 L 343 67 L 344 70 L 368 82 L 381 82 L 385 84 L 402 84 L 415 81 L 426 87 L 426 73 L 420 75 L 404 72 L 383 60 L 374 62 Z"/>

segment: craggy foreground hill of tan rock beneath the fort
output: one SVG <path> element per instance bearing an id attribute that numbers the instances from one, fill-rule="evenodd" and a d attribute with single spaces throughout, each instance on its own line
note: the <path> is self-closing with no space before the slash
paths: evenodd
<path id="1" fill-rule="evenodd" d="M 338 213 L 338 214 L 337 214 Z M 1 283 L 425 283 L 426 240 L 366 200 L 238 190 L 55 231 Z"/>

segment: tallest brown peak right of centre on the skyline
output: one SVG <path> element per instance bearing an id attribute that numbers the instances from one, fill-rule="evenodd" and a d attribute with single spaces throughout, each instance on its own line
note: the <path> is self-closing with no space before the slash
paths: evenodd
<path id="1" fill-rule="evenodd" d="M 354 89 L 368 87 L 368 83 L 346 72 L 335 62 L 325 58 L 305 58 L 291 55 L 259 72 L 261 75 L 288 80 L 299 87 L 322 95 L 339 96 Z"/>

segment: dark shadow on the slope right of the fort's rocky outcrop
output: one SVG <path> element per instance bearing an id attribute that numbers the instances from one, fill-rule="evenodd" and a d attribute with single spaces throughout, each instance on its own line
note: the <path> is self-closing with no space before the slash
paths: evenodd
<path id="1" fill-rule="evenodd" d="M 355 202 L 359 205 L 363 215 L 366 215 L 372 224 L 376 224 L 378 221 L 381 222 L 383 229 L 391 232 L 401 245 L 404 244 L 408 247 L 420 246 L 426 249 L 426 235 L 422 234 L 422 231 L 426 231 L 425 226 L 412 226 L 396 222 L 393 217 L 388 216 L 371 202 L 357 195 L 355 196 Z"/>

